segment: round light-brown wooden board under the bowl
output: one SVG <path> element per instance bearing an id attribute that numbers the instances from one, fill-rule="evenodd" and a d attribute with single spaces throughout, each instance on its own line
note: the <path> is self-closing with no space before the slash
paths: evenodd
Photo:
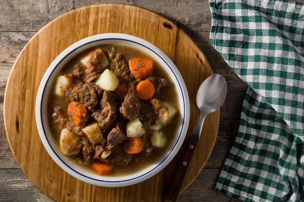
<path id="1" fill-rule="evenodd" d="M 198 117 L 196 92 L 213 72 L 200 48 L 168 19 L 126 4 L 96 4 L 60 16 L 38 31 L 19 54 L 4 97 L 4 125 L 12 152 L 22 171 L 54 201 L 161 202 L 181 153 L 161 172 L 142 183 L 108 188 L 86 184 L 63 171 L 39 138 L 35 99 L 40 80 L 55 57 L 87 36 L 120 32 L 143 38 L 163 50 L 185 79 L 190 96 L 189 136 Z M 183 182 L 186 188 L 202 171 L 216 141 L 220 111 L 209 114 Z"/>

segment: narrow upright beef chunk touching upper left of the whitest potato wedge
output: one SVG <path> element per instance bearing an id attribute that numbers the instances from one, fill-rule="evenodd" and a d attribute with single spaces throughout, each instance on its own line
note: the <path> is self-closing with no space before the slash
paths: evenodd
<path id="1" fill-rule="evenodd" d="M 104 70 L 102 66 L 102 53 L 99 51 L 94 51 L 91 53 L 89 58 L 89 66 L 85 70 L 86 78 L 85 82 L 90 83 L 101 75 L 101 72 Z"/>

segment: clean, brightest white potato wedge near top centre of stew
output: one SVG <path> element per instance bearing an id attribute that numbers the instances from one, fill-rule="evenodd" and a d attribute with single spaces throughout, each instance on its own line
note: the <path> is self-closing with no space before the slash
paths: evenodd
<path id="1" fill-rule="evenodd" d="M 114 91 L 119 84 L 119 80 L 109 69 L 105 69 L 95 80 L 95 84 L 103 90 Z"/>

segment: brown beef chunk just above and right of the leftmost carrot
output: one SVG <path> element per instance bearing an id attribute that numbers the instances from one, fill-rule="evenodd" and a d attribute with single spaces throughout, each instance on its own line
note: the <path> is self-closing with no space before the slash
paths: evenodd
<path id="1" fill-rule="evenodd" d="M 102 95 L 102 90 L 95 83 L 85 83 L 82 88 L 84 104 L 88 109 L 94 108 Z"/>

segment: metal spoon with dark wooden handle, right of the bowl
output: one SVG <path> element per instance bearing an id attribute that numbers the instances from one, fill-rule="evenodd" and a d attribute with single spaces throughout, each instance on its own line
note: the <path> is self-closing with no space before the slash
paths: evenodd
<path id="1" fill-rule="evenodd" d="M 196 124 L 190 139 L 188 140 L 186 150 L 182 161 L 175 173 L 175 177 L 166 198 L 171 202 L 175 202 L 182 186 L 189 162 L 194 153 L 194 149 L 200 139 L 203 122 L 209 113 L 215 112 L 223 104 L 227 93 L 227 84 L 225 78 L 220 74 L 214 74 L 206 78 L 201 84 L 197 95 L 196 104 L 200 109 L 200 118 Z"/>

